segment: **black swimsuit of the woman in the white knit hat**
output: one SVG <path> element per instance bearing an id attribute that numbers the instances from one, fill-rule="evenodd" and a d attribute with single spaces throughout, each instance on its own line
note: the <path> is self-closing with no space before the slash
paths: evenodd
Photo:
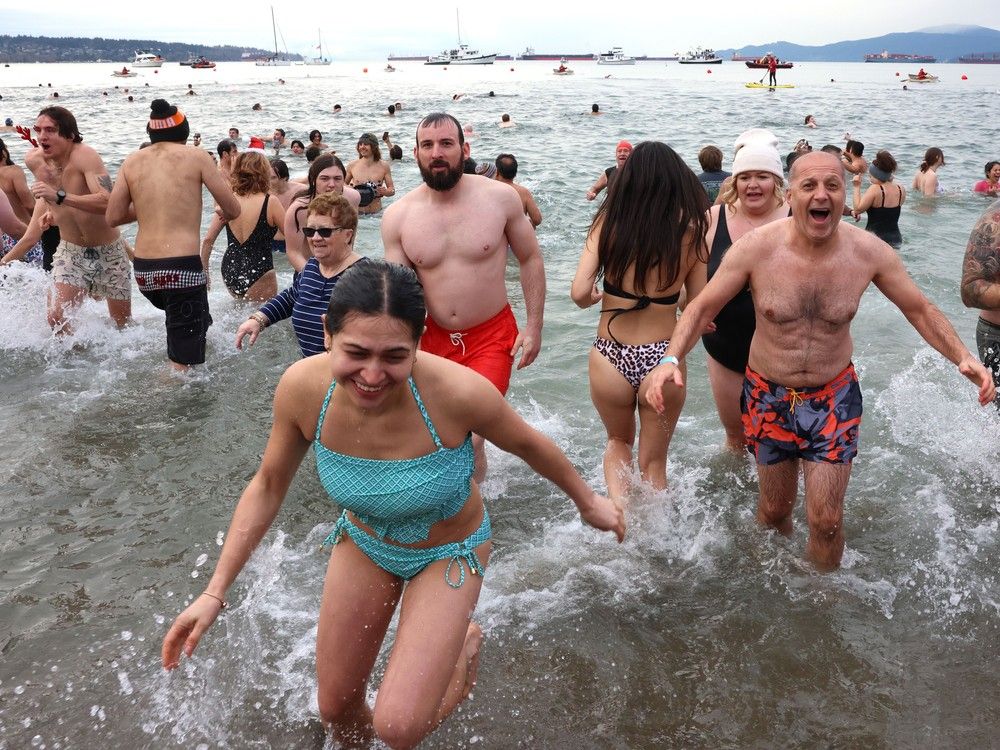
<path id="1" fill-rule="evenodd" d="M 719 269 L 726 251 L 733 244 L 726 224 L 726 207 L 719 208 L 719 224 L 715 228 L 715 239 L 708 255 L 708 278 Z M 750 342 L 757 329 L 757 318 L 753 307 L 753 297 L 747 286 L 733 297 L 715 316 L 715 331 L 706 333 L 701 342 L 716 362 L 741 375 L 747 369 L 750 359 Z"/>

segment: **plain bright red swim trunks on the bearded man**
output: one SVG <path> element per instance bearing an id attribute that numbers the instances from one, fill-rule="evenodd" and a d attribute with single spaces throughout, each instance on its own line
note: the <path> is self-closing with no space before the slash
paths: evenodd
<path id="1" fill-rule="evenodd" d="M 475 370 L 507 395 L 514 364 L 510 350 L 516 340 L 517 321 L 507 305 L 489 320 L 464 331 L 442 328 L 428 315 L 420 348 Z"/>

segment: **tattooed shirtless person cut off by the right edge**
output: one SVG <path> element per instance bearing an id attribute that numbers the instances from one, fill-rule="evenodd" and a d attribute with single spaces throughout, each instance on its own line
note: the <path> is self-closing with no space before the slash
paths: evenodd
<path id="1" fill-rule="evenodd" d="M 962 261 L 962 303 L 979 308 L 976 347 L 1000 388 L 1000 201 L 986 209 L 969 235 Z M 1000 400 L 995 403 L 1000 408 Z"/>

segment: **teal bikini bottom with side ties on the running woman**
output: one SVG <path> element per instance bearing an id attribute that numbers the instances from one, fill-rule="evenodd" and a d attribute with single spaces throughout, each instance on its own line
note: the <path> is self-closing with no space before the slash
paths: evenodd
<path id="1" fill-rule="evenodd" d="M 483 575 L 486 572 L 482 563 L 479 562 L 476 547 L 483 542 L 488 542 L 493 536 L 490 529 L 490 514 L 486 512 L 486 508 L 483 508 L 483 522 L 472 534 L 461 542 L 449 542 L 437 547 L 400 547 L 397 544 L 384 542 L 352 523 L 347 517 L 346 510 L 337 519 L 337 524 L 324 540 L 323 546 L 336 544 L 344 532 L 347 532 L 351 541 L 368 556 L 368 559 L 404 581 L 410 580 L 433 562 L 448 560 L 448 567 L 444 571 L 444 580 L 453 589 L 461 588 L 462 584 L 465 583 L 463 560 L 469 566 L 469 572 L 472 575 Z M 452 567 L 455 565 L 458 566 L 457 582 L 452 575 Z"/>

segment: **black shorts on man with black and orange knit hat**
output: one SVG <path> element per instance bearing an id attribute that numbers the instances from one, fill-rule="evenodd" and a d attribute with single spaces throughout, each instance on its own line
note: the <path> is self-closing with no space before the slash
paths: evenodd
<path id="1" fill-rule="evenodd" d="M 212 325 L 208 287 L 197 255 L 162 260 L 135 259 L 136 285 L 154 307 L 167 313 L 167 356 L 179 365 L 205 362 L 205 334 Z M 172 285 L 201 279 L 193 286 Z"/>

